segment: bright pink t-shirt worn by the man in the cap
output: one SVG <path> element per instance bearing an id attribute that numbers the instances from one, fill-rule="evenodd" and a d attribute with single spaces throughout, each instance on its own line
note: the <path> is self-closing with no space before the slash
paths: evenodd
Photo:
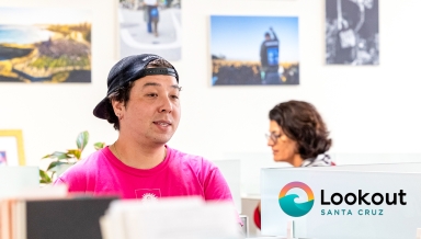
<path id="1" fill-rule="evenodd" d="M 116 194 L 122 198 L 198 195 L 206 201 L 232 202 L 227 182 L 215 164 L 166 147 L 166 159 L 148 170 L 124 164 L 105 147 L 72 166 L 55 183 L 66 183 L 69 192 Z"/>

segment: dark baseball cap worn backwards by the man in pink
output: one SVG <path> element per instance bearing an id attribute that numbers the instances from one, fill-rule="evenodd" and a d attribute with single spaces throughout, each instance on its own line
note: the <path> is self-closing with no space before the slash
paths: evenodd
<path id="1" fill-rule="evenodd" d="M 110 104 L 109 96 L 120 88 L 124 87 L 130 81 L 138 80 L 146 76 L 152 75 L 168 75 L 175 77 L 177 82 L 179 82 L 179 75 L 174 67 L 172 68 L 146 68 L 147 65 L 156 59 L 163 59 L 160 56 L 152 54 L 141 54 L 135 56 L 128 56 L 121 59 L 117 64 L 111 68 L 107 86 L 109 90 L 106 96 L 96 104 L 93 109 L 93 115 L 99 118 L 106 120 L 106 105 Z M 163 59 L 164 60 L 164 59 Z"/>

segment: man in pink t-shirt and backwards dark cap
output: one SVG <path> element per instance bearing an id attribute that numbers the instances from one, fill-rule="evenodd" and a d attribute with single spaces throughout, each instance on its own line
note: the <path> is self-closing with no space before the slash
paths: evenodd
<path id="1" fill-rule="evenodd" d="M 179 75 L 170 62 L 150 54 L 126 57 L 111 69 L 107 87 L 93 114 L 114 124 L 117 140 L 76 163 L 56 183 L 66 183 L 70 192 L 123 198 L 232 201 L 217 167 L 166 145 L 181 114 Z"/>

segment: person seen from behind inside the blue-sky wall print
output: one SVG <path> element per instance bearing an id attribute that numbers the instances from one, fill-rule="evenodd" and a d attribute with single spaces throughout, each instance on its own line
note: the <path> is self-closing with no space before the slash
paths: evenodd
<path id="1" fill-rule="evenodd" d="M 278 84 L 281 83 L 277 72 L 280 68 L 280 41 L 273 29 L 271 27 L 270 30 L 273 38 L 271 37 L 271 33 L 266 32 L 264 34 L 264 41 L 260 46 L 260 75 L 263 84 Z"/>

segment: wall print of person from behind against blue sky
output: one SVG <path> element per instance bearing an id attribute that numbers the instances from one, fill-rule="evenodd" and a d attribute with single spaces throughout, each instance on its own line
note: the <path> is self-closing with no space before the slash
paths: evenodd
<path id="1" fill-rule="evenodd" d="M 210 16 L 212 86 L 299 84 L 298 18 Z"/>

